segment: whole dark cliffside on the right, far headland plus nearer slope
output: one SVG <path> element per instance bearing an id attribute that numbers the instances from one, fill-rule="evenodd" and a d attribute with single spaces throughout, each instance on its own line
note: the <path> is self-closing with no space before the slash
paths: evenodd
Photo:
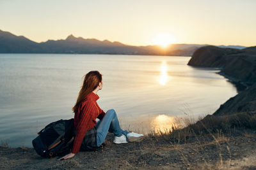
<path id="1" fill-rule="evenodd" d="M 188 65 L 218 67 L 220 74 L 230 81 L 246 86 L 239 94 L 221 104 L 213 115 L 256 111 L 256 46 L 243 50 L 204 46 L 193 53 Z"/>

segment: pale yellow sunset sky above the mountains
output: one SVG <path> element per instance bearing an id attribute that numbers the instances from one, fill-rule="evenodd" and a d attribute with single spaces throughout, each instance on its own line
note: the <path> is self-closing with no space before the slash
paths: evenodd
<path id="1" fill-rule="evenodd" d="M 83 38 L 127 45 L 256 45 L 255 0 L 0 0 L 0 29 L 36 41 Z M 167 41 L 167 40 L 166 40 Z"/>

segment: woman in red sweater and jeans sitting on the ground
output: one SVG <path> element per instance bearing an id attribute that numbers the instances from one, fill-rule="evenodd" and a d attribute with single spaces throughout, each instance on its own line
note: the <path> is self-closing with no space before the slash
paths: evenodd
<path id="1" fill-rule="evenodd" d="M 99 148 L 108 132 L 115 135 L 113 142 L 116 144 L 141 141 L 143 138 L 143 134 L 122 130 L 115 110 L 111 109 L 105 113 L 100 109 L 97 104 L 97 99 L 99 99 L 97 92 L 102 89 L 102 86 L 102 74 L 99 71 L 90 71 L 85 75 L 76 105 L 72 108 L 75 113 L 74 145 L 71 153 L 58 160 L 72 158 L 79 150 Z M 96 118 L 99 118 L 98 122 L 96 122 Z"/>

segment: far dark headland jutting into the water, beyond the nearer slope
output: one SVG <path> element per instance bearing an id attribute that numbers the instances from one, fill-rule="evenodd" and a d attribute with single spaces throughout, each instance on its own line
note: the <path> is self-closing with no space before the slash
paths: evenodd
<path id="1" fill-rule="evenodd" d="M 188 65 L 219 67 L 232 81 L 252 85 L 256 82 L 256 46 L 243 50 L 203 46 L 193 53 Z"/>

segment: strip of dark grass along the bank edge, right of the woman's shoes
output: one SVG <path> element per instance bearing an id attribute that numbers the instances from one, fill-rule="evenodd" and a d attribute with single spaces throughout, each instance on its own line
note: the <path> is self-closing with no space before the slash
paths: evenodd
<path id="1" fill-rule="evenodd" d="M 198 120 L 194 123 L 191 118 L 184 119 L 186 127 L 180 129 L 173 125 L 171 130 L 165 132 L 151 132 L 151 138 L 163 138 L 172 143 L 186 143 L 190 138 L 210 135 L 215 141 L 227 140 L 225 136 L 244 134 L 244 129 L 256 129 L 256 112 L 244 112 L 234 115 L 213 116 Z M 249 134 L 247 134 L 249 135 Z M 250 134 L 252 135 L 252 134 Z"/>

